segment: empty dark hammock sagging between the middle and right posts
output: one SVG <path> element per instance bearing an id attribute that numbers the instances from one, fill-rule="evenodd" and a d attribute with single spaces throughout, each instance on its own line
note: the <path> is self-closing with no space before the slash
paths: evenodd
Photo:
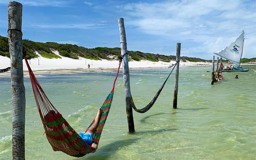
<path id="1" fill-rule="evenodd" d="M 172 71 L 173 69 L 176 67 L 177 63 L 174 65 L 174 67 L 172 68 Z M 171 71 L 171 73 L 172 73 Z M 160 95 L 160 93 L 162 92 L 163 88 L 164 88 L 164 85 L 166 83 L 166 81 L 168 80 L 168 78 L 170 77 L 171 73 L 168 75 L 168 77 L 165 79 L 164 83 L 162 84 L 162 86 L 159 88 L 159 90 L 157 91 L 156 95 L 154 96 L 154 98 L 150 101 L 150 103 L 148 103 L 148 105 L 142 109 L 137 109 L 133 100 L 132 100 L 132 97 L 130 98 L 130 101 L 131 101 L 131 107 L 138 113 L 145 113 L 147 112 L 153 105 L 154 103 L 156 102 L 158 96 Z"/>

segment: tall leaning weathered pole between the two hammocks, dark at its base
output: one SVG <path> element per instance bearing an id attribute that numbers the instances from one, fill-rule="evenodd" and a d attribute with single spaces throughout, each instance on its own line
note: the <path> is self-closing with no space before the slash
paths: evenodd
<path id="1" fill-rule="evenodd" d="M 128 65 L 124 18 L 118 18 L 118 26 L 119 26 L 119 34 L 120 34 L 121 56 L 123 57 L 122 69 L 123 69 L 124 85 L 125 85 L 127 122 L 128 122 L 129 132 L 133 133 L 135 131 L 133 115 L 132 115 L 132 107 L 131 107 L 131 103 L 133 102 L 132 102 L 131 90 L 130 90 L 130 74 L 129 74 L 129 65 Z"/>

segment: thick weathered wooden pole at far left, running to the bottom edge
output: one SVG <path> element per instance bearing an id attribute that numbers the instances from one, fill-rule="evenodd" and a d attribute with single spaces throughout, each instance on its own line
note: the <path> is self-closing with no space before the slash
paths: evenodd
<path id="1" fill-rule="evenodd" d="M 12 159 L 25 160 L 25 87 L 22 64 L 22 4 L 8 2 L 8 41 L 11 58 Z"/>

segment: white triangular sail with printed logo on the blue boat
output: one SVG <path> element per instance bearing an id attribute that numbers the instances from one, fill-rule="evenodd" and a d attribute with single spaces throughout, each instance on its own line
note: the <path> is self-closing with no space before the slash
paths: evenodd
<path id="1" fill-rule="evenodd" d="M 240 59 L 242 57 L 243 43 L 244 31 L 242 31 L 241 34 L 237 37 L 237 39 L 233 41 L 229 46 L 217 51 L 214 54 L 229 59 L 231 62 L 238 66 L 240 64 Z"/>

